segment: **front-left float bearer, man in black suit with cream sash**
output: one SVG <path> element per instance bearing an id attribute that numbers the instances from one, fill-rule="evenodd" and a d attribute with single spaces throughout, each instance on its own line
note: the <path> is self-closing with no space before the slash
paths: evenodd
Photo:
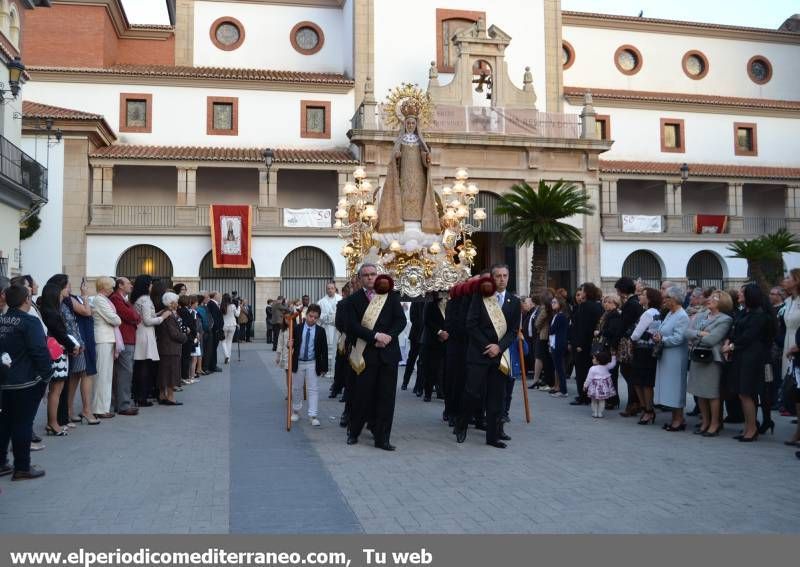
<path id="1" fill-rule="evenodd" d="M 400 294 L 388 289 L 385 294 L 375 292 L 378 270 L 373 264 L 364 264 L 358 271 L 361 291 L 354 293 L 347 303 L 347 338 L 355 352 L 350 361 L 354 378 L 355 397 L 347 431 L 347 444 L 358 443 L 364 424 L 374 416 L 372 433 L 375 446 L 394 451 L 389 443 L 394 420 L 394 402 L 397 390 L 397 365 L 400 346 L 397 337 L 406 326 L 406 316 L 400 304 Z M 385 276 L 381 276 L 384 278 Z M 386 278 L 391 283 L 391 279 Z M 378 289 L 384 282 L 379 282 Z M 387 287 L 389 287 L 387 285 Z M 380 312 L 365 317 L 370 303 L 383 304 Z M 360 353 L 360 355 L 359 355 Z M 360 366 L 360 367 L 359 367 Z"/>

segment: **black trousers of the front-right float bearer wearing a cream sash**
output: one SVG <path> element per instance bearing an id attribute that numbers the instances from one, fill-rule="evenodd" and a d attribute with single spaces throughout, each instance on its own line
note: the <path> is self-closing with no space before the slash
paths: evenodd
<path id="1" fill-rule="evenodd" d="M 500 418 L 505 407 L 508 376 L 496 364 L 468 364 L 467 383 L 462 399 L 459 427 L 466 429 L 470 417 L 479 415 L 486 406 L 486 442 L 494 443 L 500 436 Z"/>

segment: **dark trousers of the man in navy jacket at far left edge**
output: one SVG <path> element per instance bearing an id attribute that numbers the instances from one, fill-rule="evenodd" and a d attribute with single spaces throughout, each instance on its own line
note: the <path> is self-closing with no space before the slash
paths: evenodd
<path id="1" fill-rule="evenodd" d="M 8 463 L 10 442 L 14 470 L 30 470 L 33 420 L 46 388 L 45 382 L 39 382 L 30 388 L 0 392 L 0 465 Z"/>

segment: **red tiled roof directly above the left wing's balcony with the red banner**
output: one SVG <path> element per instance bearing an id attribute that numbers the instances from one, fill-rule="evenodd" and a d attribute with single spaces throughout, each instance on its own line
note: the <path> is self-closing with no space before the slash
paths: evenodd
<path id="1" fill-rule="evenodd" d="M 263 148 L 221 148 L 196 146 L 136 146 L 115 144 L 99 148 L 90 155 L 107 159 L 147 159 L 186 161 L 263 161 Z M 279 163 L 305 163 L 330 165 L 355 165 L 358 160 L 344 149 L 293 150 L 276 149 L 275 161 Z"/>

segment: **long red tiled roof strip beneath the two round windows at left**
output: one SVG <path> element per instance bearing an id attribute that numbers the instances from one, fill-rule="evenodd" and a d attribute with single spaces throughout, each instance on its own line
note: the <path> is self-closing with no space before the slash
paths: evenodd
<path id="1" fill-rule="evenodd" d="M 56 72 L 94 75 L 119 75 L 123 77 L 171 77 L 176 79 L 220 79 L 228 81 L 264 81 L 286 83 L 312 83 L 352 86 L 355 82 L 338 73 L 307 73 L 304 71 L 273 71 L 269 69 L 235 69 L 230 67 L 174 67 L 171 65 L 113 65 L 97 67 L 43 67 L 31 66 L 36 73 Z"/>

